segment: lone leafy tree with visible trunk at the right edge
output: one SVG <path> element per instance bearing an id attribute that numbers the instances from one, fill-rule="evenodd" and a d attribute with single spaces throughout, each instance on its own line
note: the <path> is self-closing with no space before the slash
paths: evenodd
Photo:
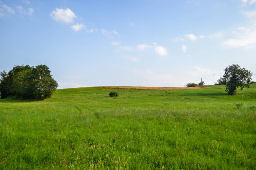
<path id="1" fill-rule="evenodd" d="M 225 87 L 228 95 L 236 94 L 236 89 L 240 87 L 243 90 L 244 87 L 249 88 L 251 82 L 251 71 L 245 68 L 240 68 L 239 65 L 228 66 L 225 70 L 223 78 L 225 79 Z"/>

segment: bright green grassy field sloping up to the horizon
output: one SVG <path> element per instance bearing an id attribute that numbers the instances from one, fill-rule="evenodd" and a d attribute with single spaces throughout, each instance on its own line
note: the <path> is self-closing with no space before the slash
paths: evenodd
<path id="1" fill-rule="evenodd" d="M 1 99 L 0 169 L 255 169 L 256 84 L 237 91 L 75 88 Z"/>

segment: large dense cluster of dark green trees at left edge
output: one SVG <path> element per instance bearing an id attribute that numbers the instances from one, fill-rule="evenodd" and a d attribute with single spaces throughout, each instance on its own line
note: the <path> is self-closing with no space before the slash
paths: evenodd
<path id="1" fill-rule="evenodd" d="M 20 99 L 50 98 L 58 83 L 50 75 L 46 65 L 31 67 L 15 66 L 8 73 L 0 72 L 0 96 L 15 96 Z"/>

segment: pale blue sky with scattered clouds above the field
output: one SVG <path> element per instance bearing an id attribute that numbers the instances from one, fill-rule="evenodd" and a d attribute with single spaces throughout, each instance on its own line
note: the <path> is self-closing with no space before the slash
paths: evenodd
<path id="1" fill-rule="evenodd" d="M 0 0 L 0 70 L 46 64 L 59 88 L 183 87 L 255 54 L 256 0 Z"/>

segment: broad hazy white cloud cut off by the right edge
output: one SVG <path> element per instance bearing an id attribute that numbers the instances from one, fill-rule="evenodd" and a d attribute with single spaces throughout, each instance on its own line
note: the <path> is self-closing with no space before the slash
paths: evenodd
<path id="1" fill-rule="evenodd" d="M 249 27 L 238 27 L 234 32 L 234 38 L 230 38 L 221 43 L 223 47 L 239 48 L 244 47 L 250 50 L 256 47 L 256 11 L 245 11 L 251 25 Z"/>

